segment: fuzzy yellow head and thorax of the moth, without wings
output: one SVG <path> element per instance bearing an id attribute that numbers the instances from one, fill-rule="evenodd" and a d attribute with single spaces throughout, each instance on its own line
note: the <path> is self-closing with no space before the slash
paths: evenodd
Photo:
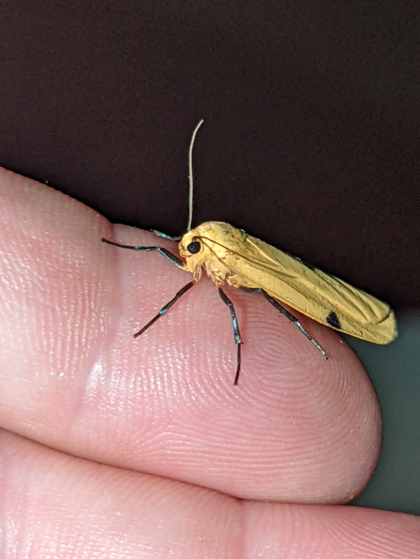
<path id="1" fill-rule="evenodd" d="M 218 285 L 237 284 L 227 259 L 240 252 L 246 233 L 224 222 L 204 222 L 188 231 L 179 242 L 179 254 L 186 260 L 186 268 L 199 279 L 202 268 Z M 199 243 L 200 250 L 191 254 L 188 247 Z M 193 246 L 195 248 L 195 246 Z"/>

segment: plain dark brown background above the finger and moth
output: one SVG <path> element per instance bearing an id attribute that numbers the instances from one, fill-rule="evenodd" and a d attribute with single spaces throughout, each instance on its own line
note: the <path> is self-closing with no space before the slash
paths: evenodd
<path id="1" fill-rule="evenodd" d="M 225 220 L 420 303 L 418 6 L 5 1 L 0 164 L 113 222 Z"/>

